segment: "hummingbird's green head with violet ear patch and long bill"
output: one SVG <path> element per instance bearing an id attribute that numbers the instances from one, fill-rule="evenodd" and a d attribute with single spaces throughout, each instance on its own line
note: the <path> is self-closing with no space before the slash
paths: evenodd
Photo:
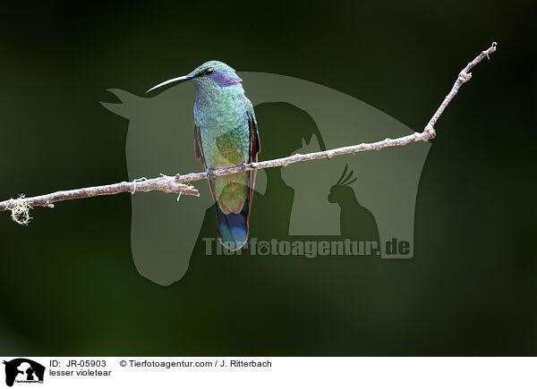
<path id="1" fill-rule="evenodd" d="M 231 66 L 220 61 L 209 61 L 184 76 L 159 83 L 148 92 L 181 80 L 192 80 L 196 89 L 226 88 L 243 82 Z"/>

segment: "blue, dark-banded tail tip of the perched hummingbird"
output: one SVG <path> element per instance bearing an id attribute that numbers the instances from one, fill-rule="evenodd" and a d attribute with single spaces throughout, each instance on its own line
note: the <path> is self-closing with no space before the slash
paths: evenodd
<path id="1" fill-rule="evenodd" d="M 218 235 L 226 249 L 241 249 L 248 239 L 248 214 L 250 206 L 248 200 L 244 201 L 244 206 L 238 214 L 225 214 L 217 207 Z"/>

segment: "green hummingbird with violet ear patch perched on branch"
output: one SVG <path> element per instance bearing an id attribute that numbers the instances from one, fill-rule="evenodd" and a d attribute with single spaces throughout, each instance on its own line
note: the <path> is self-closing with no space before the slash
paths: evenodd
<path id="1" fill-rule="evenodd" d="M 217 209 L 218 237 L 227 249 L 241 249 L 248 239 L 248 222 L 255 186 L 255 170 L 244 165 L 257 162 L 260 135 L 243 80 L 220 61 L 201 64 L 192 72 L 166 80 L 148 90 L 181 80 L 191 80 L 194 103 L 194 155 L 207 172 L 209 190 Z M 241 173 L 213 176 L 212 171 L 241 166 Z"/>

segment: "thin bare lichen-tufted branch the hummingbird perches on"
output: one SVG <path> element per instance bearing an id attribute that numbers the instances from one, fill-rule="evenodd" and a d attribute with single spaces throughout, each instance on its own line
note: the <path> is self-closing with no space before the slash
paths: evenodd
<path id="1" fill-rule="evenodd" d="M 379 140 L 373 143 L 361 143 L 354 146 L 345 146 L 343 148 L 332 148 L 330 150 L 319 151 L 309 154 L 294 154 L 293 156 L 286 156 L 284 158 L 272 159 L 269 161 L 255 162 L 246 164 L 243 166 L 234 166 L 224 169 L 213 170 L 211 173 L 214 176 L 226 175 L 233 173 L 240 173 L 248 170 L 266 169 L 268 167 L 286 166 L 295 164 L 297 162 L 311 161 L 312 159 L 331 158 L 332 156 L 342 156 L 346 154 L 354 154 L 367 150 L 379 150 L 381 148 L 392 148 L 396 146 L 404 146 L 408 143 L 431 140 L 436 136 L 434 126 L 441 114 L 443 114 L 449 102 L 455 97 L 460 87 L 468 80 L 472 78 L 470 70 L 477 63 L 482 62 L 482 59 L 489 57 L 490 54 L 496 51 L 496 42 L 492 43 L 492 46 L 483 51 L 480 55 L 476 56 L 472 62 L 468 63 L 459 74 L 449 91 L 447 96 L 442 101 L 437 111 L 430 118 L 429 123 L 425 126 L 422 132 L 414 132 L 411 135 L 396 139 Z M 33 198 L 25 199 L 23 195 L 19 199 L 9 199 L 0 202 L 0 211 L 9 210 L 12 212 L 12 218 L 19 224 L 28 224 L 30 221 L 29 209 L 31 207 L 54 207 L 54 203 L 57 201 L 64 201 L 70 199 L 85 199 L 95 196 L 113 195 L 123 192 L 135 191 L 151 191 L 159 190 L 166 193 L 179 193 L 185 195 L 191 195 L 199 197 L 200 193 L 194 187 L 184 182 L 199 181 L 207 178 L 207 173 L 189 173 L 189 174 L 176 174 L 175 177 L 162 175 L 158 178 L 146 180 L 145 178 L 134 180 L 133 182 L 119 182 L 111 185 L 95 186 L 91 188 L 83 188 L 77 190 L 62 190 L 55 193 L 37 196 Z"/>

